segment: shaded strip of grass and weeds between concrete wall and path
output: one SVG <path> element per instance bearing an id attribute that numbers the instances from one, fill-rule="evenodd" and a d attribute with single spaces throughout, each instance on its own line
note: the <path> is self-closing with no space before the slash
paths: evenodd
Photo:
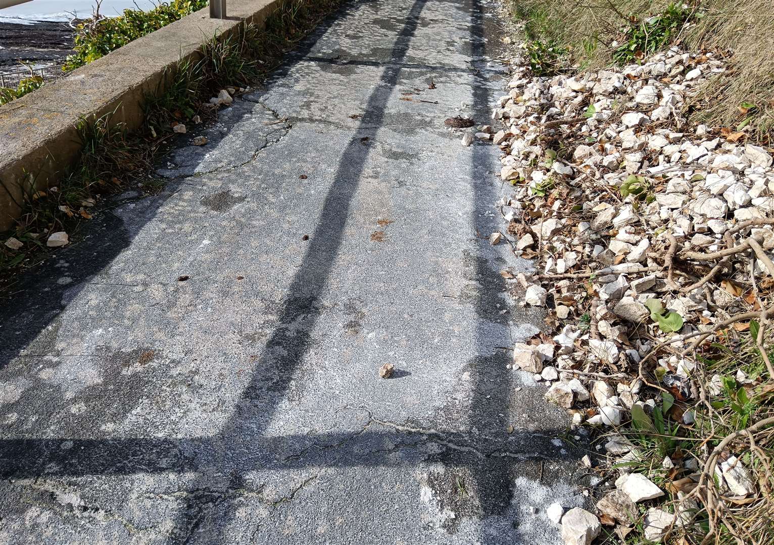
<path id="1" fill-rule="evenodd" d="M 20 269 L 43 261 L 53 251 L 46 247 L 50 233 L 77 232 L 105 196 L 138 186 L 157 191 L 163 180 L 153 177 L 152 167 L 159 150 L 175 137 L 173 125 L 197 116 L 217 116 L 217 107 L 208 103 L 210 97 L 225 87 L 260 82 L 337 3 L 286 2 L 269 15 L 265 26 L 243 25 L 226 39 L 211 39 L 198 60 L 182 62 L 170 71 L 163 93 L 146 97 L 146 121 L 140 131 L 129 133 L 123 124 L 111 123 L 109 114 L 81 120 L 77 129 L 83 151 L 72 172 L 46 190 L 34 189 L 33 173 L 29 187 L 22 188 L 23 200 L 18 203 L 22 216 L 13 230 L 0 235 L 4 243 L 0 244 L 0 290 Z"/>

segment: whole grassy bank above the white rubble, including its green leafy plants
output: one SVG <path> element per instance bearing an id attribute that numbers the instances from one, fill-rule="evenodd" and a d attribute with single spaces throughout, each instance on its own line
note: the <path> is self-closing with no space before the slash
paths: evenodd
<path id="1" fill-rule="evenodd" d="M 767 0 L 509 0 L 521 22 L 533 70 L 636 63 L 672 44 L 732 51 L 731 70 L 714 78 L 692 109 L 697 122 L 745 128 L 768 144 L 774 127 L 774 21 Z"/>

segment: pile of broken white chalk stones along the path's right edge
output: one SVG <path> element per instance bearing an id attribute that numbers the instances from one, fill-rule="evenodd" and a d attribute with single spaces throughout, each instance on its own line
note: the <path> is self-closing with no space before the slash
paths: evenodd
<path id="1" fill-rule="evenodd" d="M 575 76 L 535 77 L 517 59 L 495 121 L 463 134 L 463 145 L 502 151 L 501 177 L 513 189 L 498 203 L 503 228 L 490 242 L 535 260 L 534 274 L 502 275 L 520 284 L 521 305 L 547 308 L 553 328 L 517 344 L 512 368 L 546 383 L 546 399 L 574 426 L 608 431 L 598 451 L 615 479 L 596 514 L 548 509 L 567 545 L 588 545 L 601 524 L 623 540 L 640 502 L 651 506 L 647 540 L 692 523 L 693 499 L 680 492 L 676 508 L 659 506 L 665 492 L 628 468 L 639 452 L 617 429 L 633 410 L 652 414 L 664 395 L 690 407 L 720 393 L 721 377 L 702 374 L 696 348 L 740 313 L 765 308 L 760 294 L 774 284 L 771 152 L 747 143 L 745 131 L 685 117 L 723 71 L 719 56 L 678 48 Z M 755 382 L 741 370 L 735 380 Z M 677 414 L 693 424 L 691 410 Z M 690 482 L 699 461 L 663 460 L 676 466 L 673 475 Z M 735 457 L 715 473 L 731 495 L 755 493 Z"/>

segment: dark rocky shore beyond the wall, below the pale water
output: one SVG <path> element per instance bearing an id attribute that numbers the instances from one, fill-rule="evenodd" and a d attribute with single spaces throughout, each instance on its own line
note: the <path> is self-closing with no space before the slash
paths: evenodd
<path id="1" fill-rule="evenodd" d="M 0 71 L 23 63 L 62 63 L 73 53 L 73 37 L 67 22 L 0 22 Z"/>

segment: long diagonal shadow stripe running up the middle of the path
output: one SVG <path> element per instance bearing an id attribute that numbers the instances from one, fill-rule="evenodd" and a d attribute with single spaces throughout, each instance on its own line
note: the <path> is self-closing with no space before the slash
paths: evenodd
<path id="1" fill-rule="evenodd" d="M 368 134 L 375 135 L 384 121 L 387 103 L 402 70 L 400 64 L 409 50 L 409 43 L 426 2 L 415 0 L 406 13 L 406 22 L 398 32 L 390 53 L 395 64 L 385 66 L 368 98 L 358 128 L 344 149 L 334 181 L 324 199 L 317 227 L 310 237 L 310 246 L 287 289 L 291 295 L 279 312 L 279 325 L 265 344 L 252 371 L 251 380 L 242 392 L 241 402 L 236 405 L 234 413 L 221 430 L 220 444 L 212 449 L 216 459 L 211 467 L 228 467 L 225 462 L 228 462 L 231 451 L 240 450 L 239 446 L 244 446 L 245 442 L 253 441 L 262 434 L 279 401 L 286 394 L 296 369 L 310 349 L 311 334 L 321 310 L 319 298 L 339 254 L 351 202 L 357 192 L 366 159 L 371 153 L 371 146 L 363 145 L 361 138 Z M 232 469 L 226 478 L 228 482 L 224 483 L 225 488 L 237 489 L 244 485 L 243 474 L 244 471 Z M 200 480 L 204 479 L 207 478 Z M 198 485 L 193 486 L 196 488 Z M 220 542 L 221 537 L 213 534 L 217 535 L 228 527 L 236 510 L 231 509 L 227 516 L 214 521 L 212 526 L 217 527 L 202 527 L 202 520 L 207 513 L 195 505 L 196 501 L 195 497 L 192 498 L 180 512 L 184 519 L 183 526 L 189 529 L 185 541 L 194 538 L 195 531 L 197 540 Z"/>

